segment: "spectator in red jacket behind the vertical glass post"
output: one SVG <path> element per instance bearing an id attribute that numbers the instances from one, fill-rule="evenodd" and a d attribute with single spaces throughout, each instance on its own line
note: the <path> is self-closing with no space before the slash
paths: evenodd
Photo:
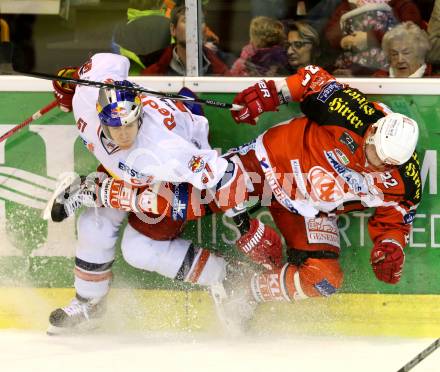
<path id="1" fill-rule="evenodd" d="M 176 6 L 171 12 L 170 31 L 175 43 L 157 52 L 139 56 L 146 66 L 141 75 L 185 75 L 186 73 L 186 26 L 185 6 Z M 227 75 L 228 66 L 219 58 L 217 53 L 207 48 L 202 48 L 203 66 L 201 75 Z"/>

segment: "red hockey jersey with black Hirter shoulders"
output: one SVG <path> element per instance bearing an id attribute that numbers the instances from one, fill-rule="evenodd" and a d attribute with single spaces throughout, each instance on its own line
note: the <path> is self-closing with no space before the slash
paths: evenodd
<path id="1" fill-rule="evenodd" d="M 365 133 L 389 109 L 319 67 L 302 68 L 285 83 L 281 93 L 300 102 L 306 116 L 270 128 L 255 148 L 276 199 L 305 216 L 375 207 L 373 242 L 405 246 L 422 194 L 417 153 L 391 171 L 365 167 Z"/>

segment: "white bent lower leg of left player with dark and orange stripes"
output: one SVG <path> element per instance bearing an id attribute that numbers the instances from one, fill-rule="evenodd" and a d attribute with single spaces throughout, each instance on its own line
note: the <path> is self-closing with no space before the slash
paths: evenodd
<path id="1" fill-rule="evenodd" d="M 190 241 L 173 239 L 157 241 L 127 226 L 121 250 L 131 266 L 154 271 L 168 278 L 210 285 L 224 279 L 226 262 Z"/>

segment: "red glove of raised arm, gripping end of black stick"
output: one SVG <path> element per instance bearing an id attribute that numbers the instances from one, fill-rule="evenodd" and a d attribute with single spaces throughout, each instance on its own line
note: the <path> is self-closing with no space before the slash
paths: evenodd
<path id="1" fill-rule="evenodd" d="M 277 88 L 273 80 L 261 80 L 257 84 L 238 93 L 233 103 L 243 106 L 239 111 L 231 111 L 237 123 L 257 124 L 255 118 L 266 111 L 277 111 L 280 105 Z"/>

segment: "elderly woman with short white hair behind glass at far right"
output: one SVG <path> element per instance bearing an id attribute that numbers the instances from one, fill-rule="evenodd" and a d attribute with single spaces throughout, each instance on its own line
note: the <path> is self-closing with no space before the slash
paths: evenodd
<path id="1" fill-rule="evenodd" d="M 377 77 L 432 76 L 432 68 L 426 63 L 431 44 L 428 34 L 413 22 L 404 22 L 388 31 L 382 40 L 382 49 L 390 63 L 388 70 L 379 70 Z"/>

